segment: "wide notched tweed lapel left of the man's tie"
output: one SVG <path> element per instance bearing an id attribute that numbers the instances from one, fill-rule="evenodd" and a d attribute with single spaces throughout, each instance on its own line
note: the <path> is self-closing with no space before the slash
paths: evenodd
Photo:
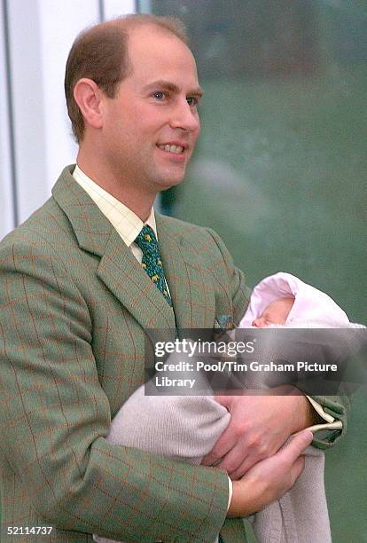
<path id="1" fill-rule="evenodd" d="M 53 197 L 73 226 L 80 248 L 100 256 L 97 275 L 144 328 L 175 328 L 175 316 L 160 291 L 90 196 L 63 170 Z"/>

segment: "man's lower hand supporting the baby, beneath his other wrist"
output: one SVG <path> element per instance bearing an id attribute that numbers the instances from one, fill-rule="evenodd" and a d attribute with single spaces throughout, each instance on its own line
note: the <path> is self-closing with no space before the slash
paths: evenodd
<path id="1" fill-rule="evenodd" d="M 227 516 L 252 515 L 288 492 L 303 471 L 301 453 L 311 441 L 312 432 L 300 432 L 281 451 L 258 462 L 240 481 L 235 481 Z"/>

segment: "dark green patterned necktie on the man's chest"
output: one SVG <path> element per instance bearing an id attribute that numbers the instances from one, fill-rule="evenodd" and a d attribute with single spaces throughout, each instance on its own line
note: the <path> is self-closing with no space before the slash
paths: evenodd
<path id="1" fill-rule="evenodd" d="M 160 260 L 160 249 L 152 228 L 145 224 L 135 242 L 143 252 L 142 266 L 144 270 L 172 307 L 171 296 L 168 293 L 162 261 Z"/>

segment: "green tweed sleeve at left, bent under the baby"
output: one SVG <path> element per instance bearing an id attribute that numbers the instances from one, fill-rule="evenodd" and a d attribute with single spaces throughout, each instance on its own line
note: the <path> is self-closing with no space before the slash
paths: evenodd
<path id="1" fill-rule="evenodd" d="M 0 281 L 0 452 L 38 515 L 124 541 L 215 540 L 223 470 L 107 443 L 90 312 L 62 259 L 3 242 Z"/>

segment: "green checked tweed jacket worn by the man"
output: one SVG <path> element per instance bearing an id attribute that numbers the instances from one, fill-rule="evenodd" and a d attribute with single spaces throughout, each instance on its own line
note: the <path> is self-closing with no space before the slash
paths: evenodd
<path id="1" fill-rule="evenodd" d="M 144 381 L 145 330 L 237 325 L 243 274 L 215 232 L 157 215 L 174 315 L 72 169 L 0 244 L 1 540 L 51 526 L 17 540 L 211 542 L 225 522 L 224 541 L 246 541 L 240 519 L 225 521 L 223 470 L 105 439 Z"/>

